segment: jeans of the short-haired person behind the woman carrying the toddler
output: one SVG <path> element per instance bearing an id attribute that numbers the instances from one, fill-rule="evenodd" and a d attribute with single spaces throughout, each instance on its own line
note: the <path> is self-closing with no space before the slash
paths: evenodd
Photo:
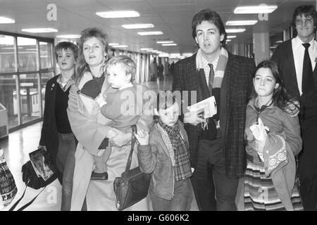
<path id="1" fill-rule="evenodd" d="M 61 211 L 69 211 L 72 200 L 75 151 L 77 140 L 74 134 L 58 133 L 57 169 L 63 173 Z"/>

